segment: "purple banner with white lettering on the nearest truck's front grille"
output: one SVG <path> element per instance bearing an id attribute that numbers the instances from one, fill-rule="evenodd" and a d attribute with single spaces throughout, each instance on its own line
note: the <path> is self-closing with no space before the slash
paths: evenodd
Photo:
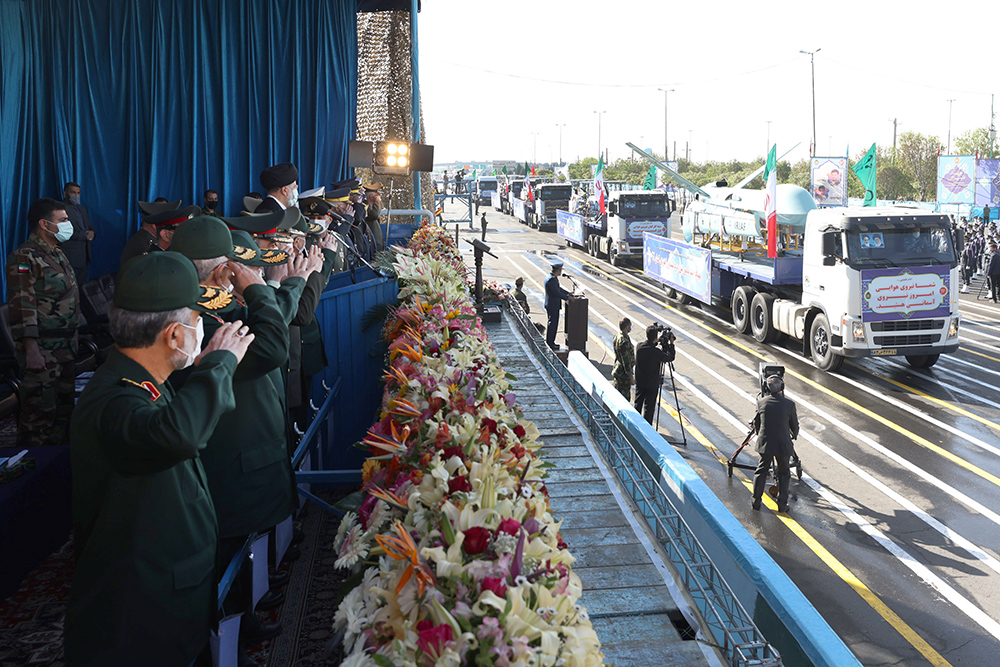
<path id="1" fill-rule="evenodd" d="M 951 267 L 920 266 L 861 271 L 861 319 L 865 322 L 947 317 Z"/>

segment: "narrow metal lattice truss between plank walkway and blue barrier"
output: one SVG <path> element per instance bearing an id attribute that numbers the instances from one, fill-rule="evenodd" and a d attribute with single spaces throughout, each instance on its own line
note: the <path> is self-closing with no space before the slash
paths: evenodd
<path id="1" fill-rule="evenodd" d="M 768 643 L 754 624 L 604 405 L 580 386 L 517 303 L 508 301 L 505 311 L 517 322 L 524 339 L 556 386 L 586 421 L 591 436 L 622 488 L 639 508 L 643 519 L 680 573 L 716 647 L 733 667 L 781 665 L 777 649 Z"/>

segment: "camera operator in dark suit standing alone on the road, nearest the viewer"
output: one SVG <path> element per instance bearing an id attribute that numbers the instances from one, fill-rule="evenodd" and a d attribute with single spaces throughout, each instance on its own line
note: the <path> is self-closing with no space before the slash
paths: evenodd
<path id="1" fill-rule="evenodd" d="M 757 414 L 753 430 L 757 434 L 757 454 L 760 463 L 753 476 L 753 505 L 760 509 L 760 500 L 767 483 L 771 464 L 778 464 L 778 511 L 788 511 L 788 485 L 792 478 L 790 458 L 795 455 L 792 440 L 799 435 L 799 417 L 795 403 L 785 398 L 785 382 L 772 375 L 764 382 L 766 391 L 757 398 Z"/>

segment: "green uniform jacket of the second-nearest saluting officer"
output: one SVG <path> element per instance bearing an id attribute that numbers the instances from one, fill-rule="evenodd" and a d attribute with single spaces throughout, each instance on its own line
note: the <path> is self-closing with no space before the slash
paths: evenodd
<path id="1" fill-rule="evenodd" d="M 227 322 L 242 320 L 254 341 L 233 376 L 236 409 L 219 420 L 202 462 L 219 517 L 219 534 L 240 537 L 269 530 L 292 513 L 297 499 L 285 419 L 288 322 L 298 305 L 303 278 L 289 278 L 275 291 L 251 285 L 245 306 L 223 314 Z M 222 321 L 202 315 L 205 340 Z"/>

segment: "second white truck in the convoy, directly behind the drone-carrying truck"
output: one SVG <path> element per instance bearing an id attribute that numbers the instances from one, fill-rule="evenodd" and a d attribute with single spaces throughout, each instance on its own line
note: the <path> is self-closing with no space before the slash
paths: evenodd
<path id="1" fill-rule="evenodd" d="M 673 202 L 661 190 L 618 190 L 608 195 L 606 214 L 597 212 L 593 200 L 590 209 L 585 214 L 557 211 L 556 233 L 612 266 L 641 261 L 646 234 L 670 236 Z"/>

